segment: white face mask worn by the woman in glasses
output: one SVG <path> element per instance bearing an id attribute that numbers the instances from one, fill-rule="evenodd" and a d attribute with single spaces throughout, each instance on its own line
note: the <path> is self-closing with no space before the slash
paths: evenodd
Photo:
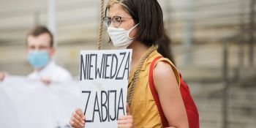
<path id="1" fill-rule="evenodd" d="M 113 45 L 118 49 L 127 48 L 133 41 L 133 38 L 129 37 L 129 32 L 131 32 L 132 29 L 135 29 L 136 26 L 138 26 L 138 24 L 136 24 L 134 27 L 132 27 L 129 30 L 125 30 L 123 28 L 114 28 L 109 26 L 108 35 L 110 36 L 110 39 L 113 42 Z"/>

